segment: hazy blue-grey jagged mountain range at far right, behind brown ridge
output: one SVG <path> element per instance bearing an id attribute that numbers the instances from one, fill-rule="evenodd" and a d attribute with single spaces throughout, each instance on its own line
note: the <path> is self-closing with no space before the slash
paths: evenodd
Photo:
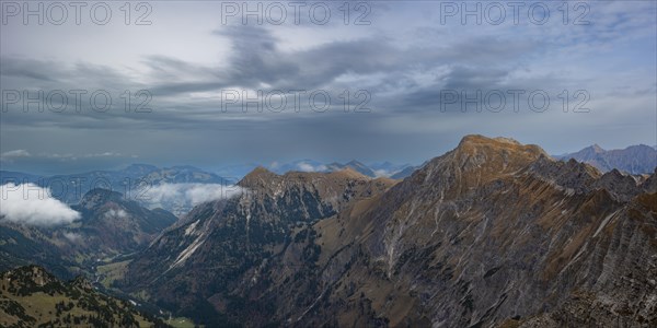
<path id="1" fill-rule="evenodd" d="M 653 173 L 657 166 L 657 150 L 649 145 L 631 145 L 625 149 L 603 150 L 597 144 L 587 147 L 576 153 L 556 156 L 562 160 L 575 159 L 596 166 L 602 172 L 613 168 L 631 174 Z"/>

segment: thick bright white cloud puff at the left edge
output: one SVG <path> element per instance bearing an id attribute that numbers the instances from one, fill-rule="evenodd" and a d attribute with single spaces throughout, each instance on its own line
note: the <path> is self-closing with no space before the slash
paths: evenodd
<path id="1" fill-rule="evenodd" d="M 80 213 L 53 198 L 49 188 L 34 184 L 0 187 L 0 218 L 30 225 L 58 225 L 80 219 Z"/>

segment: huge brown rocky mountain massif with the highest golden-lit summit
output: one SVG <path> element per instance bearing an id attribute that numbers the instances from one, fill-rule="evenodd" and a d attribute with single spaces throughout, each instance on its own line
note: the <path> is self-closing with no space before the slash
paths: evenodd
<path id="1" fill-rule="evenodd" d="M 657 173 L 468 136 L 404 180 L 256 168 L 120 285 L 209 326 L 657 325 Z"/>

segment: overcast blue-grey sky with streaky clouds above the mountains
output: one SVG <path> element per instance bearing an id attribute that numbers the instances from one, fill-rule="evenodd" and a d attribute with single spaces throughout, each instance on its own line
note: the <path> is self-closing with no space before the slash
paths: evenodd
<path id="1" fill-rule="evenodd" d="M 263 5 L 262 24 L 256 16 L 244 24 L 243 2 L 132 2 L 129 19 L 124 2 L 106 2 L 107 19 L 97 7 L 92 17 L 89 2 L 80 24 L 70 3 L 67 17 L 59 4 L 41 3 L 43 25 L 24 15 L 22 2 L 2 1 L 2 169 L 422 163 L 469 133 L 510 137 L 553 154 L 657 143 L 654 1 L 572 2 L 567 15 L 562 2 L 480 2 L 481 15 L 464 17 L 461 10 L 477 2 L 354 2 L 345 17 L 343 1 L 316 1 L 298 9 L 298 22 L 291 2 L 250 1 L 251 9 Z M 38 91 L 43 113 L 38 101 L 23 104 Z M 85 92 L 79 105 L 77 91 Z M 269 94 L 269 106 L 258 113 L 251 104 L 244 113 L 234 98 L 242 91 Z M 276 113 L 280 92 L 287 105 Z M 112 107 L 101 113 L 103 94 Z M 550 105 L 537 110 L 544 95 Z M 135 113 L 142 102 L 150 113 Z"/>

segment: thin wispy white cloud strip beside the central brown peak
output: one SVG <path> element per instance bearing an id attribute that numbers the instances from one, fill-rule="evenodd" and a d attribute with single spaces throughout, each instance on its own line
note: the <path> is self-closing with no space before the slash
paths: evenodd
<path id="1" fill-rule="evenodd" d="M 235 185 L 162 184 L 150 187 L 139 197 L 139 200 L 149 204 L 173 202 L 196 206 L 206 201 L 231 198 L 241 192 L 242 188 Z"/>

